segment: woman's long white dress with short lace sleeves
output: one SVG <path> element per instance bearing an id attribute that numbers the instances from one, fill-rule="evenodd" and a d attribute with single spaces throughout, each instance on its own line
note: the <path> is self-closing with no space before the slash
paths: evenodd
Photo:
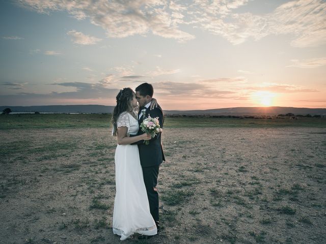
<path id="1" fill-rule="evenodd" d="M 119 115 L 117 126 L 128 128 L 129 134 L 137 134 L 138 120 L 130 113 Z M 133 233 L 155 235 L 157 229 L 150 214 L 143 170 L 137 145 L 117 145 L 115 154 L 116 197 L 113 210 L 113 233 L 120 240 Z"/>

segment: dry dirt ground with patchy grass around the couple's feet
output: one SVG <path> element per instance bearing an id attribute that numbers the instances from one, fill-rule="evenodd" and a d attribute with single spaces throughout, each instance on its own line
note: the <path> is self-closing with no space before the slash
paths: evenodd
<path id="1" fill-rule="evenodd" d="M 1 243 L 326 243 L 325 129 L 165 129 L 162 230 L 124 242 L 110 130 L 0 136 Z"/>

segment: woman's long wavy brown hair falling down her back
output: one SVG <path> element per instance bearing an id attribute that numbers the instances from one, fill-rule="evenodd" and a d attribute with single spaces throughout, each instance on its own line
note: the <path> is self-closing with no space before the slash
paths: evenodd
<path id="1" fill-rule="evenodd" d="M 119 115 L 124 111 L 132 111 L 133 107 L 131 104 L 131 100 L 133 98 L 133 90 L 129 87 L 123 88 L 118 93 L 116 99 L 117 99 L 117 105 L 115 106 L 112 114 L 111 123 L 113 125 L 113 135 L 117 136 L 117 120 Z"/>

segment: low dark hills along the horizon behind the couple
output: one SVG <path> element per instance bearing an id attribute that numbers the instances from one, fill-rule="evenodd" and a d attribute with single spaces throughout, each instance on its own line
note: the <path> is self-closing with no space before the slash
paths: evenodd
<path id="1" fill-rule="evenodd" d="M 49 106 L 0 106 L 0 111 L 10 108 L 13 112 L 48 112 L 48 113 L 112 113 L 114 106 L 104 105 L 49 105 Z M 323 114 L 326 108 L 294 108 L 294 107 L 236 107 L 207 110 L 164 110 L 165 114 L 215 114 L 215 115 L 278 115 Z"/>

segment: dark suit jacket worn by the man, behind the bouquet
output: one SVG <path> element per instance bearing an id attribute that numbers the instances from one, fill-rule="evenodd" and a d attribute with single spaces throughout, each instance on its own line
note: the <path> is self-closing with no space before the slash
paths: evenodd
<path id="1" fill-rule="evenodd" d="M 141 111 L 140 111 L 141 112 Z M 158 117 L 159 126 L 163 128 L 164 124 L 164 116 L 161 107 L 158 105 L 157 108 L 150 110 L 148 107 L 146 109 L 145 116 L 142 115 L 140 119 L 138 119 L 139 125 L 142 124 L 144 118 L 147 118 L 150 115 L 152 118 Z M 142 135 L 144 132 L 142 129 L 139 129 L 137 135 L 130 135 L 130 136 L 138 136 Z M 139 157 L 141 160 L 142 167 L 150 167 L 150 166 L 157 166 L 165 161 L 163 147 L 161 143 L 161 133 L 158 133 L 154 138 L 149 140 L 149 145 L 144 144 L 144 140 L 134 142 L 132 144 L 137 144 L 139 149 Z"/>

